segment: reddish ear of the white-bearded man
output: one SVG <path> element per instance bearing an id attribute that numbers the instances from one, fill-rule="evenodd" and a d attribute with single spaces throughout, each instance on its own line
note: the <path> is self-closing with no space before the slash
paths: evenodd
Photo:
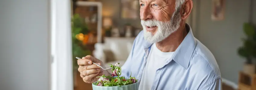
<path id="1" fill-rule="evenodd" d="M 191 10 L 193 8 L 193 1 L 192 0 L 186 0 L 185 3 L 182 5 L 182 13 L 181 13 L 181 19 L 186 19 Z"/>

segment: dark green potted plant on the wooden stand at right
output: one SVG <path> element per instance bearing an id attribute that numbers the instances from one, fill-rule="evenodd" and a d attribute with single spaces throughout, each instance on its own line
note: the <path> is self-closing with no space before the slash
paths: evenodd
<path id="1" fill-rule="evenodd" d="M 243 38 L 243 46 L 238 48 L 238 54 L 246 58 L 243 71 L 245 73 L 254 74 L 256 64 L 254 60 L 256 58 L 256 32 L 252 23 L 244 23 L 244 32 L 247 38 Z"/>

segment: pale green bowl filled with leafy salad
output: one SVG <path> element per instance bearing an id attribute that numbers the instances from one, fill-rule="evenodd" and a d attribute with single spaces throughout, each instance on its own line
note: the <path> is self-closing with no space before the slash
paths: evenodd
<path id="1" fill-rule="evenodd" d="M 111 76 L 105 76 L 105 74 L 98 76 L 98 81 L 92 83 L 93 90 L 138 90 L 139 84 L 135 77 L 121 76 L 122 68 L 119 67 L 119 63 L 108 65 L 112 67 Z"/>

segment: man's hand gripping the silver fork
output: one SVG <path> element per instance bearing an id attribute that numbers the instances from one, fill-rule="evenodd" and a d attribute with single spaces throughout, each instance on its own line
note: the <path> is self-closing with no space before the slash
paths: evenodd
<path id="1" fill-rule="evenodd" d="M 97 76 L 102 76 L 103 74 L 109 75 L 107 70 L 101 69 L 96 64 L 92 64 L 92 62 L 102 65 L 102 61 L 92 57 L 91 55 L 87 55 L 77 61 L 77 64 L 79 65 L 78 71 L 80 72 L 80 76 L 86 83 L 96 82 L 99 79 L 96 78 Z"/>

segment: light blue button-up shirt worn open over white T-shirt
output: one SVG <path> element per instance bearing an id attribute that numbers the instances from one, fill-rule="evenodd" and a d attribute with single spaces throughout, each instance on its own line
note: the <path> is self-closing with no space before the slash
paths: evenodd
<path id="1" fill-rule="evenodd" d="M 218 64 L 192 29 L 167 59 L 165 66 L 156 70 L 151 90 L 222 90 Z M 152 44 L 144 39 L 143 31 L 135 38 L 129 57 L 122 66 L 122 76 L 132 76 L 140 82 Z M 153 66 L 152 66 L 153 67 Z"/>

